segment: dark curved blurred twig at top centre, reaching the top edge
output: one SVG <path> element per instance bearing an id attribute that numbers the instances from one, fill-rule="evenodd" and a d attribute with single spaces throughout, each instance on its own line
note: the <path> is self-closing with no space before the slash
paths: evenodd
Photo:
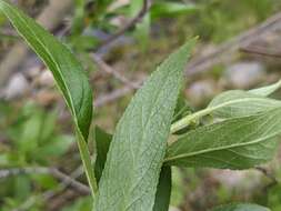
<path id="1" fill-rule="evenodd" d="M 138 22 L 140 22 L 141 19 L 145 16 L 145 13 L 151 8 L 151 4 L 152 4 L 151 0 L 143 0 L 143 4 L 142 4 L 142 8 L 139 11 L 139 13 L 134 18 L 132 18 L 123 28 L 119 29 L 119 31 L 117 31 L 116 33 L 113 33 L 112 36 L 110 36 L 106 40 L 103 40 L 101 42 L 101 44 L 99 46 L 99 48 L 104 47 L 104 46 L 111 43 L 112 41 L 114 41 L 116 39 L 118 39 L 120 36 L 122 36 L 123 33 L 126 33 L 126 31 L 128 31 L 129 29 L 131 29 L 132 27 L 134 27 Z"/>

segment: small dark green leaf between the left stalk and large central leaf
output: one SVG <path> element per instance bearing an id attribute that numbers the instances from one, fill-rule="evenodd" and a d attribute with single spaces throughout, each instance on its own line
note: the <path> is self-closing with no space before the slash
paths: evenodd
<path id="1" fill-rule="evenodd" d="M 106 160 L 107 160 L 107 154 L 109 151 L 110 142 L 112 140 L 112 134 L 109 134 L 106 131 L 103 131 L 101 128 L 96 127 L 94 137 L 96 137 L 96 149 L 97 149 L 94 174 L 96 174 L 97 181 L 99 182 L 103 168 L 104 168 Z"/>

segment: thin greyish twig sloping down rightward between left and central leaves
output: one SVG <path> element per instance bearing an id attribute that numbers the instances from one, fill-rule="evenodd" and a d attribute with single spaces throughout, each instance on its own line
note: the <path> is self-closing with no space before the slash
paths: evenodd
<path id="1" fill-rule="evenodd" d="M 121 81 L 122 83 L 124 83 L 126 86 L 132 88 L 132 89 L 139 89 L 140 84 L 133 83 L 131 82 L 129 79 L 127 79 L 124 76 L 122 76 L 121 73 L 119 73 L 117 70 L 114 70 L 113 68 L 111 68 L 109 64 L 107 64 L 98 54 L 92 53 L 92 59 L 93 61 L 99 66 L 99 68 L 101 70 L 103 70 L 104 72 L 112 74 L 114 78 L 117 78 L 119 81 Z"/>

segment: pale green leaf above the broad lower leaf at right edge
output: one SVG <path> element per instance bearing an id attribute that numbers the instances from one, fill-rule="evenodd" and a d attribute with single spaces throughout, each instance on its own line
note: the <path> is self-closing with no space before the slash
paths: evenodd
<path id="1" fill-rule="evenodd" d="M 247 91 L 225 91 L 215 97 L 208 109 L 217 118 L 235 118 L 251 115 L 281 105 L 281 101 L 264 98 Z"/>

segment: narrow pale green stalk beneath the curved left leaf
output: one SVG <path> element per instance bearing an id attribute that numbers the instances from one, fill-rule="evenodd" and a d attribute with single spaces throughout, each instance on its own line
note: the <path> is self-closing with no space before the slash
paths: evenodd
<path id="1" fill-rule="evenodd" d="M 81 160 L 84 167 L 84 172 L 86 172 L 86 175 L 91 189 L 92 199 L 94 199 L 96 193 L 98 191 L 98 185 L 97 185 L 97 180 L 93 172 L 91 155 L 88 149 L 88 144 L 79 131 L 78 131 L 78 147 L 79 147 Z"/>

